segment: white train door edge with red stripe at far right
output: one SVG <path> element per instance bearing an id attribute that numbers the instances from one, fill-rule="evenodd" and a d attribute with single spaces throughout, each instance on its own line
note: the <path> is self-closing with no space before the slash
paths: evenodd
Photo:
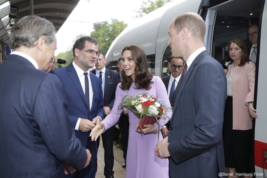
<path id="1" fill-rule="evenodd" d="M 253 120 L 255 130 L 254 135 L 254 160 L 255 160 L 255 177 L 267 178 L 267 3 L 263 1 L 263 9 L 258 32 L 258 51 L 256 59 L 256 77 L 255 77 L 255 96 L 254 106 L 257 110 L 258 117 Z"/>

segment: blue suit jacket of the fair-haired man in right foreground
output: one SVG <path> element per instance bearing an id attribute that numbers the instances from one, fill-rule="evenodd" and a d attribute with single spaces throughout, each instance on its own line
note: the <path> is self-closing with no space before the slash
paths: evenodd
<path id="1" fill-rule="evenodd" d="M 207 50 L 178 88 L 168 134 L 171 177 L 218 177 L 224 172 L 222 125 L 226 77 Z"/>

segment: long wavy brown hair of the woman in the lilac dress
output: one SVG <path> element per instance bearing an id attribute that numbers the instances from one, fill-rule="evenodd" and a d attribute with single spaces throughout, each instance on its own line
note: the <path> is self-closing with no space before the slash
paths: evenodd
<path id="1" fill-rule="evenodd" d="M 131 87 L 132 82 L 135 83 L 135 89 L 145 89 L 149 90 L 151 88 L 150 84 L 153 82 L 151 81 L 153 75 L 151 72 L 148 71 L 148 63 L 147 63 L 147 56 L 140 48 L 136 45 L 126 46 L 122 50 L 122 54 L 125 50 L 131 51 L 131 57 L 133 61 L 136 63 L 134 73 L 135 73 L 135 81 L 132 81 L 131 76 L 126 76 L 125 71 L 121 71 L 122 83 L 120 88 L 122 90 L 129 90 Z"/>

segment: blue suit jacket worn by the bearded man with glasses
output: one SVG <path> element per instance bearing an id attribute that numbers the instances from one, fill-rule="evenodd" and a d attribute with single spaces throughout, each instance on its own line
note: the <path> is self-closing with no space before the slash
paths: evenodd
<path id="1" fill-rule="evenodd" d="M 70 115 L 71 123 L 73 124 L 73 130 L 77 124 L 78 118 L 93 120 L 96 116 L 104 118 L 104 108 L 103 108 L 103 93 L 101 82 L 96 75 L 90 72 L 90 80 L 93 88 L 93 103 L 89 111 L 87 107 L 87 102 L 85 94 L 82 90 L 82 85 L 80 83 L 79 77 L 72 63 L 69 66 L 54 69 L 50 71 L 52 74 L 58 76 L 59 80 L 63 84 L 63 88 L 67 94 L 68 101 L 68 111 Z M 85 147 L 88 139 L 89 132 L 76 131 L 75 135 L 82 145 Z M 91 154 L 94 158 L 97 156 L 97 147 L 95 141 L 90 141 Z"/>

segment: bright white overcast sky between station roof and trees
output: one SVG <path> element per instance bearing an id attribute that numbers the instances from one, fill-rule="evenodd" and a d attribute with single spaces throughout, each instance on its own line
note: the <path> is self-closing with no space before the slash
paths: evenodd
<path id="1" fill-rule="evenodd" d="M 129 25 L 137 15 L 134 10 L 139 9 L 143 1 L 147 0 L 80 0 L 56 34 L 55 56 L 67 51 L 77 35 L 90 35 L 93 23 L 102 21 L 110 23 L 111 18 L 115 18 Z"/>

